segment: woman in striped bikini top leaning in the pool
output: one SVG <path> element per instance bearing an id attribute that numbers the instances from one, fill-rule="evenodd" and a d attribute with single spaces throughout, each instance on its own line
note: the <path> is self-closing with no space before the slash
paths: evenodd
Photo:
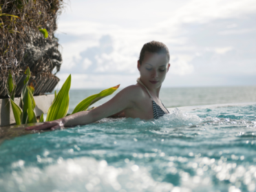
<path id="1" fill-rule="evenodd" d="M 103 105 L 90 111 L 81 111 L 58 120 L 44 122 L 26 130 L 61 129 L 64 126 L 86 125 L 108 116 L 152 119 L 159 118 L 169 111 L 162 105 L 159 92 L 169 71 L 169 50 L 164 43 L 151 41 L 143 45 L 138 60 L 140 78 L 136 85 L 122 89 Z"/>

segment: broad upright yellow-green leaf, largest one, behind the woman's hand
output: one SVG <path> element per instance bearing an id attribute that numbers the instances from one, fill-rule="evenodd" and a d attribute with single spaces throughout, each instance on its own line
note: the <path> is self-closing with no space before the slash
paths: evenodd
<path id="1" fill-rule="evenodd" d="M 56 120 L 66 116 L 70 103 L 70 85 L 71 74 L 67 77 L 67 80 L 62 85 L 61 90 L 58 92 L 56 98 L 52 102 L 52 105 L 48 109 L 45 121 Z"/>

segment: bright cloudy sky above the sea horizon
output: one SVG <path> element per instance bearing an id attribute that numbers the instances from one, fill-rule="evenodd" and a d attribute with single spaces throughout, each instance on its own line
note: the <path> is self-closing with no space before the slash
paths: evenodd
<path id="1" fill-rule="evenodd" d="M 256 85 L 255 0 L 70 0 L 58 17 L 60 88 L 136 84 L 142 46 L 169 47 L 162 87 Z"/>

